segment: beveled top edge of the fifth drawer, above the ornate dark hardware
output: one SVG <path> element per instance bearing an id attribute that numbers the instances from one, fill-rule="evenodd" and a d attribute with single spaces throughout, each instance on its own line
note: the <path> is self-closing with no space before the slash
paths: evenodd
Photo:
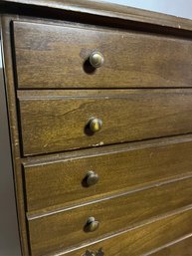
<path id="1" fill-rule="evenodd" d="M 136 224 L 133 224 L 133 225 L 129 226 L 128 228 L 124 229 L 124 230 L 118 230 L 117 232 L 112 232 L 112 233 L 103 235 L 101 237 L 98 237 L 97 239 L 92 239 L 87 243 L 77 244 L 76 247 L 70 247 L 70 248 L 67 248 L 66 250 L 61 250 L 61 251 L 58 251 L 54 254 L 53 253 L 52 254 L 46 254 L 45 256 L 63 256 L 63 255 L 66 255 L 68 253 L 75 252 L 75 251 L 78 251 L 80 249 L 84 249 L 88 246 L 95 245 L 96 243 L 103 242 L 105 240 L 117 237 L 117 236 L 125 234 L 127 232 L 131 232 L 133 230 L 145 227 L 145 226 L 153 224 L 155 222 L 165 220 L 166 218 L 171 218 L 171 217 L 174 217 L 174 216 L 179 215 L 179 214 L 187 213 L 189 211 L 192 211 L 192 204 L 187 205 L 187 206 L 182 207 L 182 208 L 179 208 L 179 209 L 175 209 L 173 211 L 170 211 L 170 212 L 167 212 L 167 213 L 164 213 L 164 214 L 161 214 L 161 215 L 158 215 L 157 217 L 152 217 L 150 219 L 141 221 L 139 223 L 137 222 Z M 142 256 L 147 256 L 147 255 L 142 255 Z"/>

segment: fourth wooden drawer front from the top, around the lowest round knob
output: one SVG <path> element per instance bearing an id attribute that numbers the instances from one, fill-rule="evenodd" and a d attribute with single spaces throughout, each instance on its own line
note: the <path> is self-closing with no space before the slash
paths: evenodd
<path id="1" fill-rule="evenodd" d="M 192 178 L 188 177 L 113 196 L 109 200 L 64 211 L 59 209 L 58 213 L 28 215 L 32 254 L 43 255 L 61 247 L 68 248 L 192 204 L 191 195 Z M 99 223 L 95 232 L 87 232 L 85 225 L 90 217 L 95 217 Z"/>

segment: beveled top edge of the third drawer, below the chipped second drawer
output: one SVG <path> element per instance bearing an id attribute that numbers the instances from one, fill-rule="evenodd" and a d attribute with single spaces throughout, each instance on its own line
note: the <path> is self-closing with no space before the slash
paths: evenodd
<path id="1" fill-rule="evenodd" d="M 156 146 L 165 146 L 175 143 L 192 142 L 192 134 L 179 134 L 170 137 L 160 137 L 146 139 L 142 141 L 130 141 L 101 147 L 82 148 L 78 150 L 65 151 L 59 153 L 49 153 L 46 155 L 34 155 L 22 158 L 24 167 L 33 167 L 42 164 L 74 160 L 77 158 L 93 157 L 96 155 L 114 154 L 117 152 L 130 151 L 133 149 L 150 148 Z"/>

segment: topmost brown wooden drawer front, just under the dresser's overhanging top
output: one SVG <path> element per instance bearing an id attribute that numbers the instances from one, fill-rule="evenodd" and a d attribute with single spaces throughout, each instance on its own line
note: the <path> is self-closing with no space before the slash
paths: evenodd
<path id="1" fill-rule="evenodd" d="M 120 30 L 14 22 L 19 88 L 191 87 L 190 40 Z M 89 64 L 93 51 L 103 65 Z"/>

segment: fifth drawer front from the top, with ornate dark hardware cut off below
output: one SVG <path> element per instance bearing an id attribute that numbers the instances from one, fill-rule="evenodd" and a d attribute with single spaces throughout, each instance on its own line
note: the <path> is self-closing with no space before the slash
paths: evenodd
<path id="1" fill-rule="evenodd" d="M 169 248 L 159 251 L 166 244 L 187 236 L 192 228 L 192 210 L 177 213 L 151 223 L 132 228 L 127 232 L 114 235 L 83 249 L 61 253 L 66 256 L 191 256 L 192 239 L 185 239 Z M 172 227 L 174 227 L 174 232 Z M 156 253 L 150 251 L 158 250 Z M 90 254 L 89 254 L 90 253 Z M 102 253 L 102 254 L 101 254 Z"/>

